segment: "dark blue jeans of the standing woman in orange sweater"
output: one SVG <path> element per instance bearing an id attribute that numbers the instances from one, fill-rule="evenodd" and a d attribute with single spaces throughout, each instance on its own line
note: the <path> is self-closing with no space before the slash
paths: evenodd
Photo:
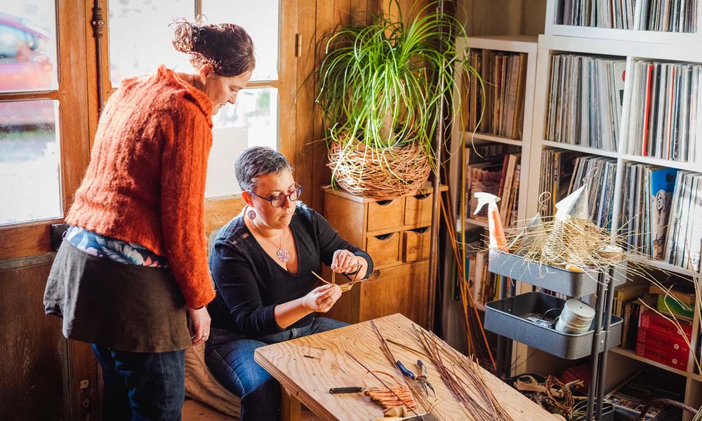
<path id="1" fill-rule="evenodd" d="M 103 421 L 179 421 L 185 400 L 185 349 L 126 352 L 93 344 L 102 366 Z"/>

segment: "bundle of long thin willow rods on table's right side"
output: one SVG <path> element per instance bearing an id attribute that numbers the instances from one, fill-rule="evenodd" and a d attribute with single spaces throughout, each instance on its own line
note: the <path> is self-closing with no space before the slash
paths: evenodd
<path id="1" fill-rule="evenodd" d="M 442 380 L 444 380 L 444 384 L 451 389 L 453 396 L 456 396 L 456 399 L 468 410 L 472 420 L 513 421 L 512 417 L 492 394 L 477 362 L 459 354 L 455 349 L 446 347 L 433 333 L 426 333 L 415 326 L 413 328 L 419 342 L 429 355 L 432 363 L 434 363 Z M 449 360 L 450 366 L 444 364 L 444 358 Z M 463 378 L 455 374 L 456 370 L 461 370 L 465 373 L 470 385 L 466 384 Z M 476 395 L 476 397 L 473 397 L 473 395 Z M 480 398 L 479 401 L 476 399 L 477 397 Z"/>

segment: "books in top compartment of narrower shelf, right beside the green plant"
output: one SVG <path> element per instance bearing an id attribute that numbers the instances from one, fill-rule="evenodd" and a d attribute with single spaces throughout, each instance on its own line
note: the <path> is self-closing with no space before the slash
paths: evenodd
<path id="1" fill-rule="evenodd" d="M 465 128 L 511 139 L 522 138 L 527 54 L 471 50 L 470 65 L 482 78 L 463 75 Z"/>

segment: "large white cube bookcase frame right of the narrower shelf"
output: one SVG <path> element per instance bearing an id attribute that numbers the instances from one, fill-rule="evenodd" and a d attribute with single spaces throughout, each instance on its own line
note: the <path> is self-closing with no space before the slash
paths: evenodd
<path id="1" fill-rule="evenodd" d="M 629 142 L 632 142 L 633 128 L 630 120 L 633 107 L 630 107 L 630 102 L 633 100 L 633 92 L 640 88 L 635 86 L 635 65 L 641 60 L 661 63 L 692 63 L 698 65 L 702 63 L 702 51 L 699 48 L 690 48 L 691 42 L 701 41 L 699 34 L 673 34 L 663 32 L 649 32 L 636 30 L 622 29 L 604 29 L 591 27 L 572 27 L 567 25 L 555 25 L 552 17 L 555 14 L 556 0 L 549 0 L 547 4 L 547 20 L 546 32 L 550 35 L 539 36 L 538 39 L 538 63 L 539 72 L 536 76 L 536 88 L 534 98 L 534 121 L 532 125 L 531 141 L 531 161 L 529 162 L 529 177 L 527 195 L 536 197 L 541 189 L 540 176 L 547 171 L 547 164 L 542 159 L 542 152 L 545 150 L 562 150 L 573 151 L 581 154 L 602 156 L 607 159 L 616 160 L 616 173 L 614 174 L 614 185 L 611 188 L 611 230 L 617 232 L 622 227 L 623 221 L 619 215 L 623 211 L 628 210 L 629 202 L 625 197 L 627 174 L 625 168 L 627 164 L 650 164 L 655 167 L 675 168 L 682 171 L 694 171 L 702 173 L 702 159 L 700 154 L 692 156 L 690 161 L 673 161 L 669 159 L 661 159 L 653 156 L 640 156 L 630 154 L 628 149 Z M 698 10 L 698 13 L 700 11 Z M 699 22 L 699 20 L 698 20 Z M 562 36 L 568 35 L 568 36 Z M 604 39 L 605 37 L 614 39 Z M 642 41 L 656 40 L 656 43 L 633 41 L 639 39 Z M 670 44 L 663 44 L 669 42 Z M 548 140 L 548 121 L 550 108 L 550 87 L 551 87 L 551 71 L 554 55 L 574 54 L 574 55 L 596 55 L 600 57 L 615 58 L 617 60 L 625 60 L 626 78 L 623 83 L 623 105 L 621 107 L 621 119 L 619 119 L 618 133 L 621 136 L 618 139 L 616 148 L 607 151 L 598 147 L 588 147 L 585 145 L 573 145 L 564 142 L 555 142 Z M 697 95 L 691 97 L 696 100 Z M 700 116 L 700 114 L 697 114 Z M 635 117 L 635 116 L 634 116 Z M 563 139 L 561 139 L 563 140 Z M 702 136 L 697 135 L 691 138 L 694 146 L 702 149 Z M 529 201 L 526 204 L 525 210 L 527 215 L 536 213 L 538 203 L 535 200 Z M 697 218 L 697 217 L 695 217 Z M 692 219 L 690 219 L 691 221 Z M 636 253 L 629 253 L 632 260 L 647 262 L 654 267 L 664 269 L 668 272 L 674 272 L 683 276 L 693 276 L 693 270 L 682 267 L 680 265 L 671 265 L 665 260 L 654 260 L 646 256 Z M 697 275 L 700 276 L 700 275 Z M 698 349 L 698 342 L 702 340 L 700 334 L 700 320 L 694 318 L 692 325 L 691 349 L 693 352 Z M 548 358 L 544 356 L 544 358 Z M 607 389 L 614 387 L 618 382 L 621 382 L 625 377 L 630 377 L 636 370 L 642 366 L 655 366 L 662 370 L 670 371 L 676 375 L 684 377 L 686 382 L 686 394 L 684 403 L 689 406 L 698 408 L 702 406 L 702 375 L 696 373 L 693 359 L 690 356 L 687 363 L 687 370 L 679 370 L 665 366 L 656 361 L 638 356 L 635 352 L 628 349 L 616 348 L 610 351 L 610 370 L 607 373 Z M 543 361 L 541 362 L 543 363 Z M 529 364 L 526 367 L 530 370 Z M 685 415 L 684 420 L 690 420 L 691 417 Z"/>

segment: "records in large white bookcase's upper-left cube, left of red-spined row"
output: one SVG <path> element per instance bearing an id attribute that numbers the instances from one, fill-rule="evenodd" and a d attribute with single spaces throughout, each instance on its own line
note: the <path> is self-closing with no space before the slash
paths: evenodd
<path id="1" fill-rule="evenodd" d="M 547 140 L 616 151 L 625 68 L 618 58 L 554 54 Z"/>

